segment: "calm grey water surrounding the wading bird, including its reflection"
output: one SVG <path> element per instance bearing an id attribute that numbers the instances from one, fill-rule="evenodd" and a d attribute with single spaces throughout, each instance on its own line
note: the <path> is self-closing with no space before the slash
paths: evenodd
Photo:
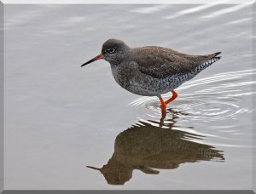
<path id="1" fill-rule="evenodd" d="M 5 189 L 252 189 L 251 5 L 4 11 Z M 120 88 L 108 62 L 80 68 L 109 37 L 223 58 L 162 115 L 156 98 Z"/>

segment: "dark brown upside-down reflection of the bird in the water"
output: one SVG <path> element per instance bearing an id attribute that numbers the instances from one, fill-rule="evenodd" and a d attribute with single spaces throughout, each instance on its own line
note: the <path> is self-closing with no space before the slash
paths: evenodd
<path id="1" fill-rule="evenodd" d="M 203 136 L 172 129 L 177 112 L 172 111 L 170 123 L 159 126 L 138 122 L 131 128 L 121 132 L 115 139 L 113 156 L 99 170 L 111 185 L 124 185 L 131 179 L 132 171 L 138 169 L 145 174 L 159 174 L 159 169 L 174 169 L 181 163 L 198 161 L 224 161 L 222 151 L 211 145 L 196 143 L 191 140 L 202 139 Z M 166 117 L 163 115 L 163 117 Z"/>

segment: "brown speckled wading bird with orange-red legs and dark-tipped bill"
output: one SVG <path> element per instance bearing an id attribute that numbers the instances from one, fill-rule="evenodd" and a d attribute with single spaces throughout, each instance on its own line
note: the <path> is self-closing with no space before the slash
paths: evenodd
<path id="1" fill-rule="evenodd" d="M 131 48 L 121 40 L 108 39 L 102 45 L 102 53 L 82 66 L 107 60 L 115 81 L 122 88 L 133 94 L 157 96 L 161 110 L 165 111 L 166 105 L 177 98 L 174 89 L 219 60 L 220 53 L 190 55 L 157 46 Z M 164 101 L 161 94 L 170 91 L 172 98 Z"/>

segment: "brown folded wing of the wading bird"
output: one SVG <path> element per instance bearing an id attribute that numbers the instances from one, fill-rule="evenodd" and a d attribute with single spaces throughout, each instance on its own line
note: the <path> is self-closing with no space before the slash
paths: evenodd
<path id="1" fill-rule="evenodd" d="M 189 55 L 181 54 L 175 50 L 161 47 L 135 48 L 131 61 L 136 63 L 139 71 L 151 77 L 160 78 L 172 76 L 176 73 L 185 73 L 195 70 L 207 60 L 217 54 Z"/>

